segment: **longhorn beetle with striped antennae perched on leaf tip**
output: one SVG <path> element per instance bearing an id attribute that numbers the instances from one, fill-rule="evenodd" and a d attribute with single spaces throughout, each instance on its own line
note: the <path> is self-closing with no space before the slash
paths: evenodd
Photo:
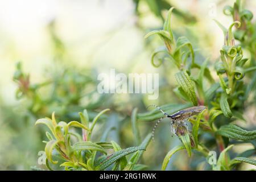
<path id="1" fill-rule="evenodd" d="M 159 106 L 149 105 L 148 107 L 150 107 L 150 106 L 154 106 L 154 107 L 158 108 L 165 115 L 165 117 L 160 118 L 155 123 L 155 126 L 152 129 L 152 139 L 153 140 L 154 140 L 155 129 L 158 126 L 158 124 L 160 123 L 160 121 L 162 121 L 163 118 L 170 118 L 171 119 L 171 127 L 172 127 L 172 129 L 174 129 L 173 125 L 175 123 L 177 123 L 177 125 L 179 125 L 179 123 L 184 122 L 185 119 L 188 119 L 192 115 L 199 114 L 199 113 L 201 113 L 201 111 L 206 109 L 205 106 L 194 106 L 194 107 L 188 107 L 187 109 L 183 109 L 183 110 L 177 111 L 176 113 L 174 113 L 172 115 L 169 115 L 169 114 L 165 113 Z M 173 132 L 175 132 L 175 130 L 173 130 Z"/>

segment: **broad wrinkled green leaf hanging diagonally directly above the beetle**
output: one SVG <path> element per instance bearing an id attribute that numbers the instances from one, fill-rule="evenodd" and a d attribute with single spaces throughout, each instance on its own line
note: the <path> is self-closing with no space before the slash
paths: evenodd
<path id="1" fill-rule="evenodd" d="M 188 76 L 187 72 L 181 71 L 175 74 L 175 78 L 179 86 L 187 94 L 193 105 L 197 105 L 197 98 L 195 93 L 195 88 L 192 83 L 191 78 Z"/>

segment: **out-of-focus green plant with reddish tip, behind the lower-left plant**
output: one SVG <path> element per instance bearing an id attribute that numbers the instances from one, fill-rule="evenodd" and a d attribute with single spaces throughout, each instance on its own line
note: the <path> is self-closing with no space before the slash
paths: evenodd
<path id="1" fill-rule="evenodd" d="M 107 97 L 102 94 L 97 100 L 91 99 L 97 94 L 97 90 L 92 89 L 97 84 L 93 74 L 87 70 L 74 71 L 61 64 L 56 67 L 47 72 L 48 77 L 44 81 L 31 83 L 30 75 L 23 72 L 22 63 L 16 64 L 13 77 L 18 84 L 16 98 L 26 105 L 27 115 L 39 118 L 56 111 L 61 119 L 71 119 L 86 107 L 90 118 L 94 117 L 96 113 L 91 110 L 100 107 Z M 81 100 L 85 98 L 89 103 L 81 104 Z"/>

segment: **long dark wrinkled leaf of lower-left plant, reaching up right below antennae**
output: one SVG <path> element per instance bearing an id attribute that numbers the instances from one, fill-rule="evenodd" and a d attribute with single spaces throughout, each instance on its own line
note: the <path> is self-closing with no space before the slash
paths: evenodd
<path id="1" fill-rule="evenodd" d="M 126 148 L 117 152 L 114 152 L 113 154 L 106 156 L 104 159 L 101 159 L 96 164 L 96 170 L 104 170 L 105 168 L 109 167 L 111 164 L 116 162 L 117 160 L 121 159 L 123 156 L 129 155 L 133 152 L 136 152 L 138 150 L 144 150 L 142 147 L 130 147 Z"/>

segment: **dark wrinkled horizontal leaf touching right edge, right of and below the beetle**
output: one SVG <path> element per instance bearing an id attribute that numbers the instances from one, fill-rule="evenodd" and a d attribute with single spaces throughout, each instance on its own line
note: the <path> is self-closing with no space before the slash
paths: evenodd
<path id="1" fill-rule="evenodd" d="M 236 140 L 254 140 L 256 139 L 256 130 L 247 131 L 237 125 L 224 125 L 216 131 L 216 134 Z"/>

